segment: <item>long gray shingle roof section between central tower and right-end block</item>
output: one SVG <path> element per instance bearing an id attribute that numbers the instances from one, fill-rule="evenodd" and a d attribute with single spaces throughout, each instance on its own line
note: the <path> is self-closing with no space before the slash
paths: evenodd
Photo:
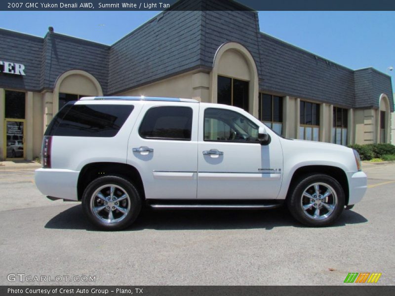
<path id="1" fill-rule="evenodd" d="M 354 72 L 269 35 L 260 34 L 260 88 L 354 107 Z"/>

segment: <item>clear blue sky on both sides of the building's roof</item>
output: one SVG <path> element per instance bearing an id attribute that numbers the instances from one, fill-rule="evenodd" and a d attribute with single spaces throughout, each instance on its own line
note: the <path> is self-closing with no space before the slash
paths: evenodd
<path id="1" fill-rule="evenodd" d="M 0 12 L 0 28 L 43 37 L 55 32 L 113 44 L 157 11 Z M 351 69 L 374 67 L 393 77 L 395 11 L 261 11 L 262 32 Z M 1 53 L 0 53 L 1 54 Z"/>

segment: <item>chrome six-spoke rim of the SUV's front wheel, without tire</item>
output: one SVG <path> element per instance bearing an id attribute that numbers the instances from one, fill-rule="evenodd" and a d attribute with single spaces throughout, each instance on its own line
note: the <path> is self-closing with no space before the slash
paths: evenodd
<path id="1" fill-rule="evenodd" d="M 336 191 L 330 185 L 314 183 L 303 191 L 300 205 L 308 218 L 324 220 L 333 213 L 337 202 Z"/>

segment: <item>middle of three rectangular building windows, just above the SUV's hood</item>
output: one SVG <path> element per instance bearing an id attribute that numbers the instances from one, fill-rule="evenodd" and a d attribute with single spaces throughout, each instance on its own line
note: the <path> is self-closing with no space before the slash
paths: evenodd
<path id="1" fill-rule="evenodd" d="M 299 139 L 318 141 L 319 104 L 300 101 Z"/>

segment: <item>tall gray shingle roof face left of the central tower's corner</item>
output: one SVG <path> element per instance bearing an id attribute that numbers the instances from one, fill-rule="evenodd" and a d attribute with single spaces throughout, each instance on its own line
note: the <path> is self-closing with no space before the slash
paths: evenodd
<path id="1" fill-rule="evenodd" d="M 164 11 L 111 46 L 108 93 L 198 66 L 200 11 Z"/>

